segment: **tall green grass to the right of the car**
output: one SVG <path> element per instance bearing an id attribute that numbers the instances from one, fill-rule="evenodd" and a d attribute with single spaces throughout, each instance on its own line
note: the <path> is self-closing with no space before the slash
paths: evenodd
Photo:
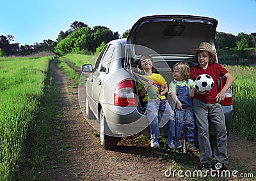
<path id="1" fill-rule="evenodd" d="M 256 141 L 256 67 L 226 66 L 234 76 L 232 131 Z"/>

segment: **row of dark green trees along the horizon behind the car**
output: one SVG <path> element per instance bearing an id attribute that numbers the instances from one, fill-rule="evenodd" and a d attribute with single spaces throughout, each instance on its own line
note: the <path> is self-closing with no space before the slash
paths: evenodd
<path id="1" fill-rule="evenodd" d="M 127 38 L 130 29 L 122 34 L 121 38 Z M 44 40 L 34 45 L 19 45 L 12 43 L 14 36 L 0 36 L 0 56 L 33 55 L 38 52 L 53 52 L 57 55 L 69 53 L 95 54 L 106 43 L 120 38 L 118 32 L 113 33 L 108 27 L 97 25 L 93 28 L 83 22 L 75 21 L 67 31 L 60 31 L 56 41 Z M 244 50 L 256 48 L 256 33 L 239 33 L 234 36 L 230 33 L 216 32 L 215 43 L 217 50 Z"/>

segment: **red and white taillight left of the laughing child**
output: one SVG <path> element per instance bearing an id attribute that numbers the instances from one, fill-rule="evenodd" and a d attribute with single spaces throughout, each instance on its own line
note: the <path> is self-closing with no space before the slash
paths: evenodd
<path id="1" fill-rule="evenodd" d="M 136 106 L 136 96 L 132 80 L 124 80 L 117 85 L 114 94 L 114 105 Z"/>

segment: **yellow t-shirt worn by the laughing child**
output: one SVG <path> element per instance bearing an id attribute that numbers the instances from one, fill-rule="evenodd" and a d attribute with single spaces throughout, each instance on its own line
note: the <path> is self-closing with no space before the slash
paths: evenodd
<path id="1" fill-rule="evenodd" d="M 153 73 L 152 75 L 144 76 L 144 77 L 147 78 L 148 80 L 153 80 L 155 82 L 155 84 L 148 87 L 148 89 L 150 89 L 150 90 L 147 90 L 147 92 L 143 98 L 143 101 L 148 101 L 148 99 L 159 99 L 156 95 L 159 92 L 164 90 L 164 84 L 166 84 L 166 80 L 164 80 L 163 76 L 160 75 L 159 73 Z M 156 89 L 155 85 L 157 85 L 158 89 Z M 143 89 L 143 85 L 141 85 L 141 83 L 139 82 L 138 90 L 141 90 L 141 89 Z M 151 92 L 153 92 L 153 91 L 154 91 L 154 96 L 151 96 Z M 148 95 L 148 93 L 150 95 Z M 162 95 L 162 96 L 160 96 L 160 98 L 166 99 L 166 96 Z"/>

